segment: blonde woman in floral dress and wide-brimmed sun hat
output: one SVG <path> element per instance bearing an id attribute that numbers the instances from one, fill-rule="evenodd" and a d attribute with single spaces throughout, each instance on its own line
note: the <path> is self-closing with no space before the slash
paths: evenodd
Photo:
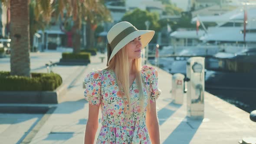
<path id="1" fill-rule="evenodd" d="M 138 30 L 128 22 L 109 30 L 107 68 L 89 73 L 84 80 L 89 101 L 85 144 L 94 143 L 100 106 L 97 144 L 160 144 L 158 73 L 153 67 L 141 67 L 141 49 L 153 36 L 154 31 Z"/>

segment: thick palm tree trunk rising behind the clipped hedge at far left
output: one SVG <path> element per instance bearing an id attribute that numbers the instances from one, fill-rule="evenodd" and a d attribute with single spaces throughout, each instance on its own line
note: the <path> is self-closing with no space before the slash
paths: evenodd
<path id="1" fill-rule="evenodd" d="M 30 0 L 10 0 L 11 75 L 30 77 Z"/>

